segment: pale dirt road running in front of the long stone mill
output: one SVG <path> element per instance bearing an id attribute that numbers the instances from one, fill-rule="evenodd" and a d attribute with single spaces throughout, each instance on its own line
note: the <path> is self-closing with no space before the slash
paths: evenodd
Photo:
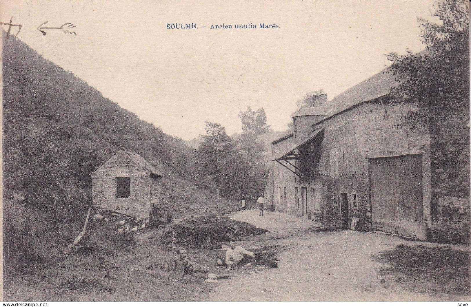
<path id="1" fill-rule="evenodd" d="M 382 286 L 371 255 L 398 244 L 442 246 L 398 237 L 350 230 L 313 231 L 314 222 L 278 212 L 245 210 L 231 218 L 262 227 L 270 233 L 241 242 L 280 245 L 277 269 L 239 275 L 220 283 L 211 301 L 469 301 L 470 297 L 429 295 Z M 457 248 L 460 248 L 459 246 Z M 462 247 L 464 248 L 464 247 Z"/>

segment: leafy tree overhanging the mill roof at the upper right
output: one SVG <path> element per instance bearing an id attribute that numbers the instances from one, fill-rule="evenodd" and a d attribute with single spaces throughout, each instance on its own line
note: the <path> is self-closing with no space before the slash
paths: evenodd
<path id="1" fill-rule="evenodd" d="M 395 103 L 413 103 L 403 124 L 413 128 L 452 113 L 469 114 L 469 16 L 467 1 L 436 0 L 440 23 L 418 18 L 425 50 L 406 55 L 389 53 L 392 65 L 387 72 L 399 85 L 390 96 Z"/>

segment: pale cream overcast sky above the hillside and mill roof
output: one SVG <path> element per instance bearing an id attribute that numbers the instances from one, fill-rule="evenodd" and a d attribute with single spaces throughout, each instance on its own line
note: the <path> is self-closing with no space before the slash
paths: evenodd
<path id="1" fill-rule="evenodd" d="M 263 107 L 286 129 L 295 102 L 324 89 L 334 96 L 381 71 L 385 53 L 420 51 L 417 16 L 432 0 L 1 1 L 0 18 L 23 24 L 18 39 L 103 96 L 191 139 L 204 121 L 240 132 L 237 114 Z M 36 28 L 71 22 L 77 35 Z M 168 23 L 198 29 L 168 30 Z M 215 30 L 211 24 L 279 24 Z M 6 27 L 4 26 L 6 30 Z"/>

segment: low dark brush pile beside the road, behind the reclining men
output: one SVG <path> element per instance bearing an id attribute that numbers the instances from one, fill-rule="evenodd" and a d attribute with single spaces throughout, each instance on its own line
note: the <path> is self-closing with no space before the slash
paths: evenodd
<path id="1" fill-rule="evenodd" d="M 210 216 L 188 218 L 179 224 L 169 226 L 162 231 L 158 240 L 160 244 L 170 247 L 184 246 L 202 250 L 217 250 L 221 248 L 220 242 L 227 241 L 226 230 L 228 226 L 237 228 L 239 236 L 267 232 L 267 230 L 249 223 Z"/>

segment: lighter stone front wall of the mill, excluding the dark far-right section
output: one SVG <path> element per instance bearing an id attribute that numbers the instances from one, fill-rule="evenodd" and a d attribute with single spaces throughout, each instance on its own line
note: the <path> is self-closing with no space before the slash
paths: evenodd
<path id="1" fill-rule="evenodd" d="M 309 211 L 313 212 L 312 206 L 320 206 L 324 225 L 338 227 L 341 226 L 341 194 L 347 194 L 349 201 L 351 194 L 357 194 L 357 208 L 351 208 L 349 202 L 349 218 L 358 217 L 362 229 L 371 229 L 367 155 L 414 151 L 422 157 L 423 211 L 430 214 L 430 137 L 425 130 L 408 133 L 406 128 L 396 126 L 408 110 L 408 105 L 383 106 L 377 100 L 357 105 L 311 126 L 304 134 L 325 129 L 316 149 L 320 150 L 320 158 L 316 165 L 311 165 L 316 170 L 312 178 L 301 179 L 288 170 L 280 170 L 277 176 L 276 165 L 274 168 L 275 198 L 277 187 L 283 189 L 286 186 L 288 190 L 284 211 L 302 215 L 294 199 L 294 189 L 298 187 L 298 193 L 301 193 L 301 187 L 307 187 Z M 274 152 L 276 155 L 276 146 Z M 310 195 L 311 187 L 315 189 L 314 199 Z"/>

